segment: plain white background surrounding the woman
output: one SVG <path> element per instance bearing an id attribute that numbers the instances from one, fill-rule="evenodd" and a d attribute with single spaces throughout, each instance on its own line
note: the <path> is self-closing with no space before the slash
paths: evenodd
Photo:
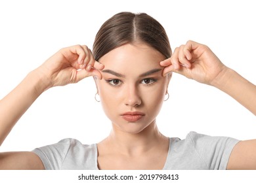
<path id="1" fill-rule="evenodd" d="M 121 11 L 156 18 L 173 50 L 189 39 L 207 44 L 225 65 L 256 83 L 253 1 L 9 0 L 0 1 L 0 99 L 60 48 L 92 48 L 100 25 Z M 43 93 L 14 126 L 1 152 L 33 150 L 67 137 L 84 144 L 101 141 L 111 122 L 95 93 L 93 78 Z M 256 138 L 255 116 L 218 89 L 174 73 L 169 94 L 157 118 L 164 135 L 183 139 L 196 131 Z"/>

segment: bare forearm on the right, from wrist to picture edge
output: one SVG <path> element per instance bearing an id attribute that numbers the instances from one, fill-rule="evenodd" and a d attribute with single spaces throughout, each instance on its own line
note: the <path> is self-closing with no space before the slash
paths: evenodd
<path id="1" fill-rule="evenodd" d="M 227 68 L 213 86 L 227 93 L 256 115 L 256 86 Z"/>

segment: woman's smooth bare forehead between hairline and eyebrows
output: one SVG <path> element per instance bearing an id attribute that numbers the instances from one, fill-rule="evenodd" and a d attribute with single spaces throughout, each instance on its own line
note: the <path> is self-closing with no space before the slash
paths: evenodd
<path id="1" fill-rule="evenodd" d="M 98 61 L 105 65 L 104 69 L 115 71 L 149 70 L 162 68 L 160 61 L 163 54 L 147 44 L 124 44 L 105 54 Z"/>

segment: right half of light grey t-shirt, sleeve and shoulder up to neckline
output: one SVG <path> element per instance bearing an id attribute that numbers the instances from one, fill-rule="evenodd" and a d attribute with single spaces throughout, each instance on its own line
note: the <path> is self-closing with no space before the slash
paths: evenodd
<path id="1" fill-rule="evenodd" d="M 191 131 L 185 139 L 170 139 L 169 160 L 177 164 L 178 169 L 226 169 L 237 142 L 230 137 L 214 137 Z"/>

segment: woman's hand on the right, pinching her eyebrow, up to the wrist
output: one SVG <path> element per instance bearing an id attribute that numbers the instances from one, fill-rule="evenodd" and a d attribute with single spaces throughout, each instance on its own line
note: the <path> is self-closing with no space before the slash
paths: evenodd
<path id="1" fill-rule="evenodd" d="M 175 72 L 204 84 L 213 85 L 227 67 L 207 46 L 194 41 L 176 48 L 171 58 L 160 62 L 163 76 Z"/>

